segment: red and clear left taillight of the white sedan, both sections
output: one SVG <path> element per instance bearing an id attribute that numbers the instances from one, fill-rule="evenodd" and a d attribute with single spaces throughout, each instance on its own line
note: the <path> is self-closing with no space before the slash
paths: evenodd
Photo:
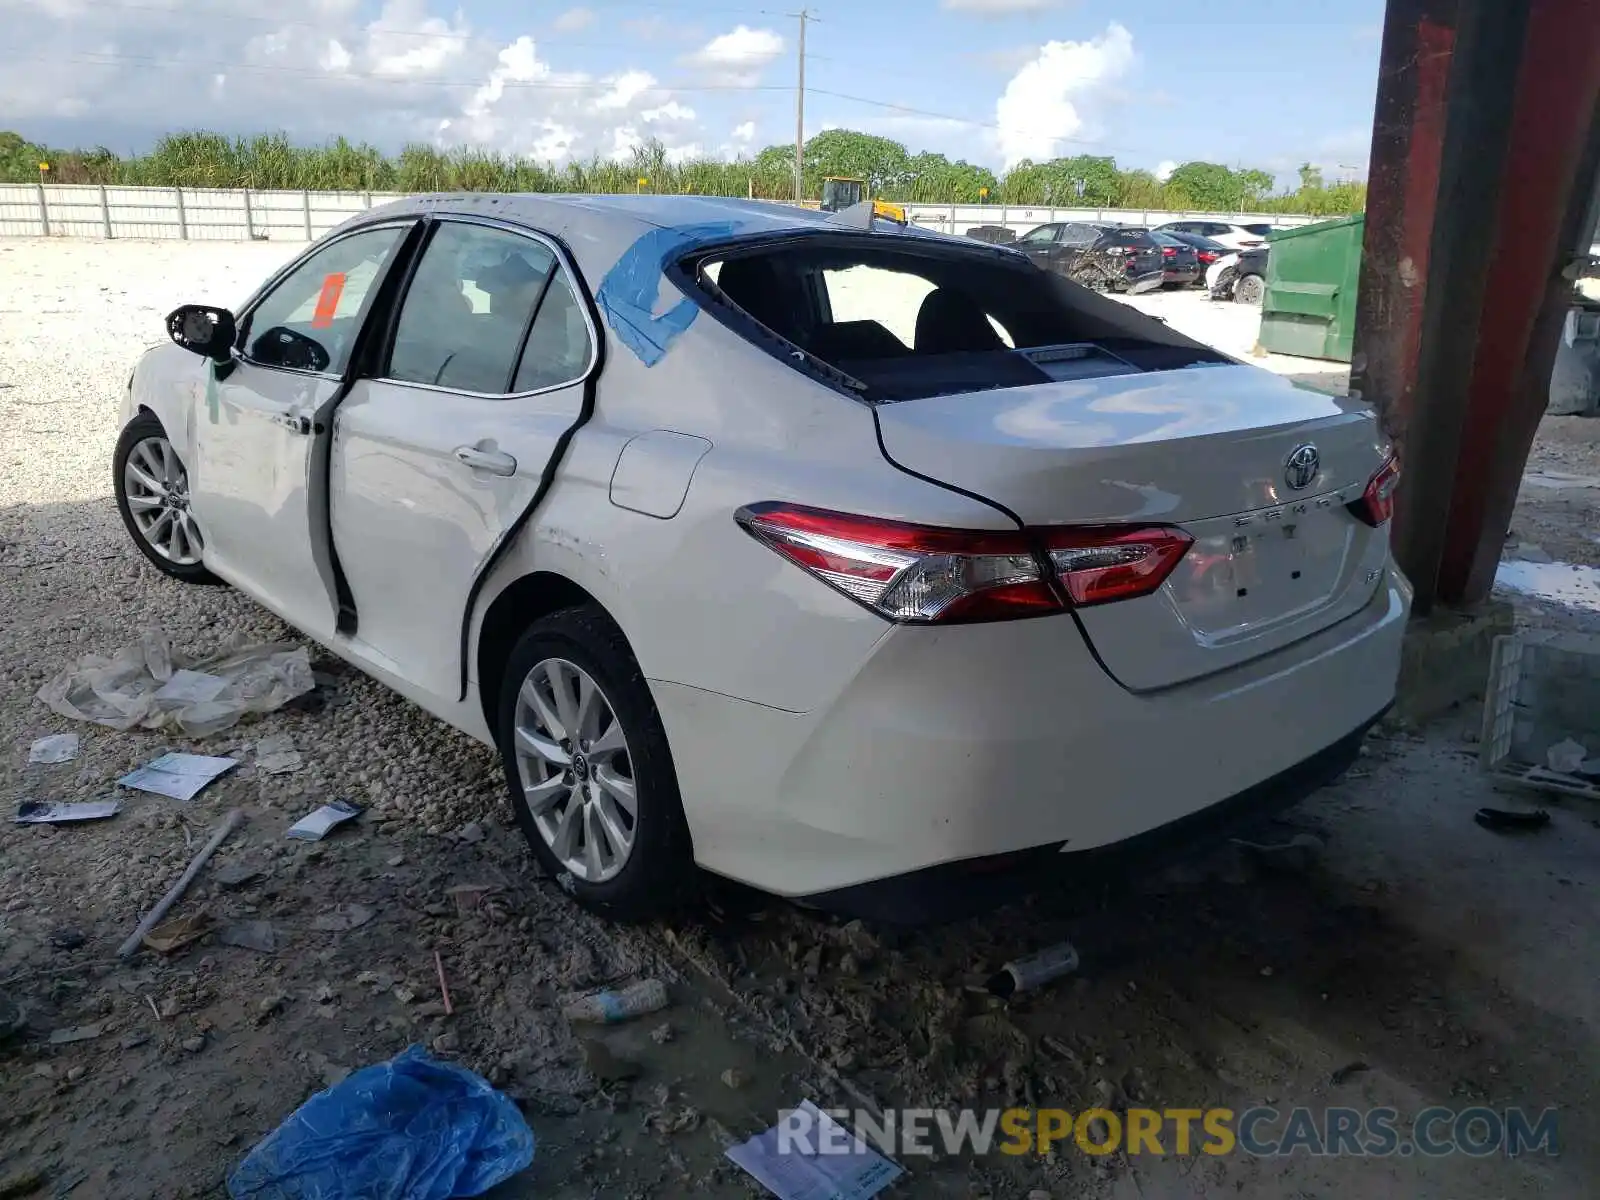
<path id="1" fill-rule="evenodd" d="M 1006 621 L 1144 595 L 1189 549 L 1181 530 L 990 533 L 907 525 L 798 504 L 750 504 L 734 518 L 789 562 L 890 621 Z"/>

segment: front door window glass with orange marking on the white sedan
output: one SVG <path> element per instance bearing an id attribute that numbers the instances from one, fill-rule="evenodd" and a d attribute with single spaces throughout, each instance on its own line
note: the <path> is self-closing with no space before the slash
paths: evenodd
<path id="1" fill-rule="evenodd" d="M 350 362 L 366 294 L 406 229 L 352 234 L 318 250 L 250 312 L 245 357 L 262 366 L 339 374 Z"/>

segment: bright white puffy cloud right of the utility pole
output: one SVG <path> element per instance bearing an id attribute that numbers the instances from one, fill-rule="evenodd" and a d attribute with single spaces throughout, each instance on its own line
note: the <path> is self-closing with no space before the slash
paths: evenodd
<path id="1" fill-rule="evenodd" d="M 1088 42 L 1046 42 L 995 102 L 995 141 L 1005 166 L 1054 158 L 1085 126 L 1085 109 L 1133 67 L 1133 34 L 1115 21 Z"/>

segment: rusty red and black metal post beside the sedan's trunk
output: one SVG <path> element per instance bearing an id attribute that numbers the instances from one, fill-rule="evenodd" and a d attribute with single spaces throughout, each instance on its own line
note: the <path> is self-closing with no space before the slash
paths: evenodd
<path id="1" fill-rule="evenodd" d="M 1542 298 L 1522 275 L 1558 269 L 1552 210 L 1574 187 L 1592 195 L 1578 160 L 1597 18 L 1592 0 L 1389 0 L 1352 387 L 1400 446 L 1392 536 L 1421 613 L 1488 592 L 1544 406 L 1555 342 L 1541 352 L 1531 339 Z M 1571 45 L 1558 53 L 1562 29 Z M 1542 382 L 1514 384 L 1510 357 Z M 1509 480 L 1491 504 L 1490 474 Z"/>

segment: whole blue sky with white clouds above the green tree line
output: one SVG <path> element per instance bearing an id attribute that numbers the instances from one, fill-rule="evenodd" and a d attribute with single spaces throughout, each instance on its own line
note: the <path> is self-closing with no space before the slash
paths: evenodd
<path id="1" fill-rule="evenodd" d="M 0 0 L 0 114 L 54 142 L 173 128 L 470 142 L 546 158 L 794 139 L 789 5 Z M 1003 168 L 1190 158 L 1365 174 L 1382 0 L 816 0 L 806 130 Z M 867 104 L 845 96 L 875 101 Z"/>

